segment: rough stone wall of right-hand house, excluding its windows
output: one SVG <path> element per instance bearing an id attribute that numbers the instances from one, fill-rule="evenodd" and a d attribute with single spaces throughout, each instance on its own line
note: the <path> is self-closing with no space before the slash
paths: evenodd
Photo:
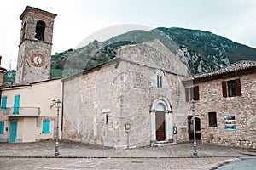
<path id="1" fill-rule="evenodd" d="M 222 82 L 240 79 L 241 96 L 223 97 Z M 201 119 L 203 143 L 256 148 L 256 73 L 195 82 L 199 86 L 200 100 L 195 104 L 195 115 Z M 208 112 L 217 113 L 217 127 L 209 126 Z M 191 115 L 192 111 L 189 111 Z M 236 117 L 236 130 L 225 129 L 224 115 Z"/>

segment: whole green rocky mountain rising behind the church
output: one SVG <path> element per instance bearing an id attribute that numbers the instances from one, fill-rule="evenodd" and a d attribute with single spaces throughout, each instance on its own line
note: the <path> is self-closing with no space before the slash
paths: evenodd
<path id="1" fill-rule="evenodd" d="M 160 27 L 151 31 L 129 31 L 105 42 L 90 42 L 52 56 L 51 77 L 66 77 L 113 59 L 115 49 L 126 44 L 159 39 L 179 55 L 191 74 L 217 70 L 240 60 L 256 60 L 256 49 L 209 31 Z M 64 70 L 64 71 L 63 71 Z"/>

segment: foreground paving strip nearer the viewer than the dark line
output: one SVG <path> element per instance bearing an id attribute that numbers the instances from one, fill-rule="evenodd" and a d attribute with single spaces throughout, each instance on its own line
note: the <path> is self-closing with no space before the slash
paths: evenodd
<path id="1" fill-rule="evenodd" d="M 1 170 L 38 169 L 211 169 L 227 158 L 0 158 Z M 237 159 L 237 158 L 236 158 Z M 230 161 L 236 161 L 232 158 Z"/>

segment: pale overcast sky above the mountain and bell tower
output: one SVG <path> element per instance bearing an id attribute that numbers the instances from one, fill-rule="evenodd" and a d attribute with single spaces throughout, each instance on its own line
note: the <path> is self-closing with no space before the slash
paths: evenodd
<path id="1" fill-rule="evenodd" d="M 52 54 L 77 48 L 84 38 L 119 25 L 211 31 L 256 48 L 256 0 L 8 0 L 0 6 L 0 55 L 8 70 L 10 60 L 16 69 L 20 14 L 27 5 L 57 14 Z"/>

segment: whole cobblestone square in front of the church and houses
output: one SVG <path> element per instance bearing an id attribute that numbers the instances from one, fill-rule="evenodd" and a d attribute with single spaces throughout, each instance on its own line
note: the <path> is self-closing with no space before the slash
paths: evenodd
<path id="1" fill-rule="evenodd" d="M 93 144 L 61 140 L 60 156 L 55 154 L 55 141 L 37 143 L 0 143 L 0 169 L 211 169 L 238 161 L 244 153 L 256 153 L 232 147 L 193 144 L 137 149 L 109 149 Z"/>

